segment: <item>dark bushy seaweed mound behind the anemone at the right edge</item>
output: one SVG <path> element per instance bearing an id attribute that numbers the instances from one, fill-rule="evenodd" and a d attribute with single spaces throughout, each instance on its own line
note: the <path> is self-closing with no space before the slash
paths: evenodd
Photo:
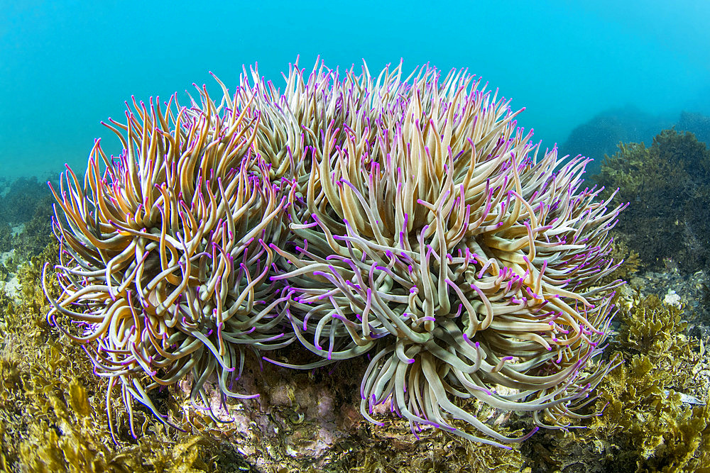
<path id="1" fill-rule="evenodd" d="M 616 230 L 644 269 L 709 264 L 710 151 L 692 133 L 665 130 L 650 147 L 621 144 L 595 179 L 630 202 Z"/>

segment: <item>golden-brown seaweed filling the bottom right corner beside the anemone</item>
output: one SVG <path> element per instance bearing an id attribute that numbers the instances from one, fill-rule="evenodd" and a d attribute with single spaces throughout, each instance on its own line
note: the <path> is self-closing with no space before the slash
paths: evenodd
<path id="1" fill-rule="evenodd" d="M 550 431 L 523 445 L 532 471 L 710 472 L 710 358 L 687 335 L 686 308 L 625 295 L 611 341 L 623 357 L 597 387 L 586 428 Z"/>

